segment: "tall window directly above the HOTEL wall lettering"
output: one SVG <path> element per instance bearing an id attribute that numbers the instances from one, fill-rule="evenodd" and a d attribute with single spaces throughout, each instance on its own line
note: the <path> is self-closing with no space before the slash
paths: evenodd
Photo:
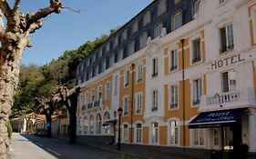
<path id="1" fill-rule="evenodd" d="M 234 48 L 233 25 L 220 28 L 220 54 Z"/>

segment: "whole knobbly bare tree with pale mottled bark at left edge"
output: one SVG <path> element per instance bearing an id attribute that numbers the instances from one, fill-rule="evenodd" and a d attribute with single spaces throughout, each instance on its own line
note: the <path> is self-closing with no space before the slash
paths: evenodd
<path id="1" fill-rule="evenodd" d="M 10 6 L 7 0 L 0 0 L 0 158 L 12 158 L 6 125 L 14 92 L 18 84 L 20 60 L 24 49 L 31 46 L 30 34 L 43 26 L 42 19 L 53 13 L 59 14 L 61 0 L 49 0 L 49 5 L 36 13 L 23 14 L 19 11 L 21 0 Z M 5 21 L 4 21 L 5 19 Z M 4 22 L 6 24 L 4 25 Z"/>

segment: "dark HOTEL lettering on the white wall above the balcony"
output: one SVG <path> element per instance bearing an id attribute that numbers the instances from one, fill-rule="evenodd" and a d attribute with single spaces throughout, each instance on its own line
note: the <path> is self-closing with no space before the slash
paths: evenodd
<path id="1" fill-rule="evenodd" d="M 229 57 L 225 57 L 218 61 L 212 62 L 210 64 L 209 69 L 215 70 L 215 69 L 221 68 L 223 66 L 234 65 L 236 63 L 241 63 L 243 61 L 244 61 L 244 58 L 242 58 L 240 54 L 239 55 L 231 55 Z"/>

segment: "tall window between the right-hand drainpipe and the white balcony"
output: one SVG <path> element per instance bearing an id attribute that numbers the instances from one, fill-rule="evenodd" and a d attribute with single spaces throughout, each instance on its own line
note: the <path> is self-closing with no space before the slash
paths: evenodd
<path id="1" fill-rule="evenodd" d="M 200 96 L 202 95 L 201 79 L 193 80 L 193 105 L 200 104 Z"/>

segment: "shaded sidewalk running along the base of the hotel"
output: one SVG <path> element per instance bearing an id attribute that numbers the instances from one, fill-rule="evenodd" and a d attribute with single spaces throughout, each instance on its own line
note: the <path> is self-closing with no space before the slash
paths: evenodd
<path id="1" fill-rule="evenodd" d="M 67 137 L 54 136 L 68 141 Z M 142 144 L 121 144 L 121 150 L 117 150 L 117 144 L 103 144 L 95 141 L 83 140 L 77 137 L 78 144 L 99 148 L 114 153 L 127 154 L 130 156 L 145 159 L 205 159 L 208 158 L 207 152 L 197 149 L 186 149 L 187 156 L 183 156 L 182 148 L 171 148 L 169 146 L 142 145 Z"/>

